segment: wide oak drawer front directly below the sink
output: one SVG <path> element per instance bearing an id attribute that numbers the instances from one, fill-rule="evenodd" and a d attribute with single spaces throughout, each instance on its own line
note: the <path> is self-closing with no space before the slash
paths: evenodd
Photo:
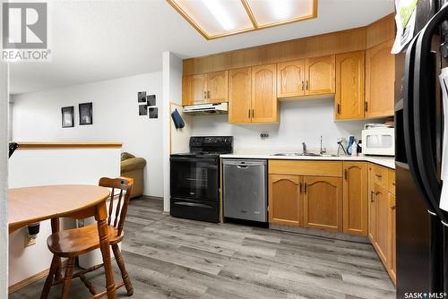
<path id="1" fill-rule="evenodd" d="M 342 176 L 341 161 L 269 160 L 269 173 L 276 175 Z"/>

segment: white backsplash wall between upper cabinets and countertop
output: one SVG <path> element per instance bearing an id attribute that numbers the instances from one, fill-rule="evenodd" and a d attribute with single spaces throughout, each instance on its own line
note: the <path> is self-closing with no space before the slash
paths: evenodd
<path id="1" fill-rule="evenodd" d="M 228 124 L 228 115 L 197 115 L 193 117 L 194 135 L 232 135 L 234 151 L 296 150 L 302 152 L 302 142 L 308 149 L 323 146 L 337 149 L 340 137 L 361 137 L 361 130 L 369 121 L 333 121 L 333 99 L 308 99 L 280 103 L 280 124 Z M 269 133 L 262 140 L 261 132 Z"/>

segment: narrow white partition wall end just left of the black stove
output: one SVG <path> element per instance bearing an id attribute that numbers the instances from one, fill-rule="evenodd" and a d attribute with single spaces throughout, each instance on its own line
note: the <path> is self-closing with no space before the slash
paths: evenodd
<path id="1" fill-rule="evenodd" d="M 169 211 L 169 102 L 182 104 L 182 59 L 171 52 L 162 54 L 163 64 L 163 210 Z"/>

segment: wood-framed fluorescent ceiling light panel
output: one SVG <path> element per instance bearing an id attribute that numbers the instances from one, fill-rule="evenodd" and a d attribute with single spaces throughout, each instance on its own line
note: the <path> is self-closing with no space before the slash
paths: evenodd
<path id="1" fill-rule="evenodd" d="M 167 0 L 204 38 L 220 38 L 317 16 L 317 0 Z"/>

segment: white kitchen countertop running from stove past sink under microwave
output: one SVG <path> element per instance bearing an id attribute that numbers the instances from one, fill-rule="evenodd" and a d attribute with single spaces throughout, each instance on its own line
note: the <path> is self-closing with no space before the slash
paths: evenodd
<path id="1" fill-rule="evenodd" d="M 220 158 L 265 158 L 265 159 L 280 159 L 280 160 L 323 160 L 323 161 L 366 161 L 395 169 L 395 158 L 383 156 L 337 156 L 337 157 L 313 157 L 313 156 L 274 156 L 269 153 L 234 153 L 220 155 Z"/>

